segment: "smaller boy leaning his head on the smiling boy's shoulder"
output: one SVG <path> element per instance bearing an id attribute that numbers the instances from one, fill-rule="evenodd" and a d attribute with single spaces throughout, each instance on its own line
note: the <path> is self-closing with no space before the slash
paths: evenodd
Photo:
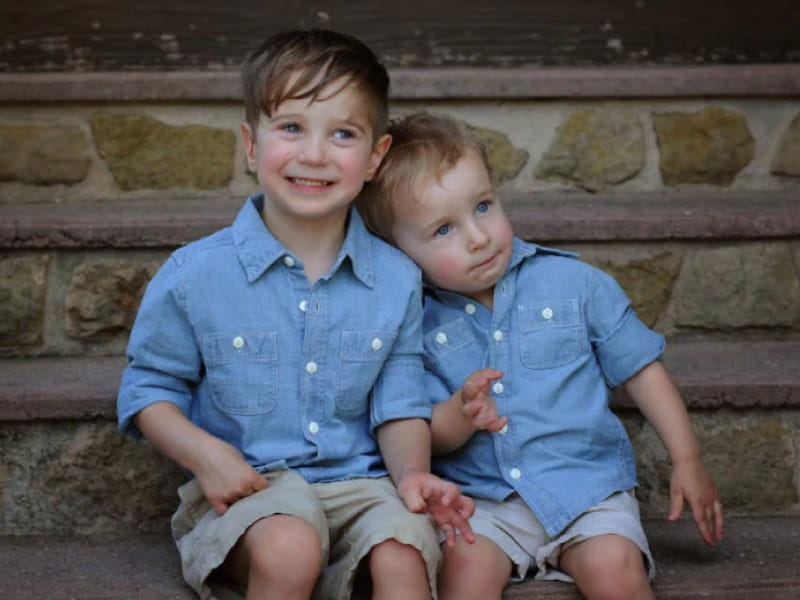
<path id="1" fill-rule="evenodd" d="M 441 597 L 500 598 L 509 578 L 530 570 L 574 580 L 587 598 L 652 598 L 634 457 L 609 388 L 624 385 L 669 451 L 669 518 L 687 501 L 708 543 L 723 524 L 659 361 L 662 336 L 608 275 L 514 238 L 481 148 L 456 122 L 418 114 L 389 132 L 392 147 L 359 208 L 430 286 L 434 469 L 476 498 L 478 539 L 444 548 Z"/>

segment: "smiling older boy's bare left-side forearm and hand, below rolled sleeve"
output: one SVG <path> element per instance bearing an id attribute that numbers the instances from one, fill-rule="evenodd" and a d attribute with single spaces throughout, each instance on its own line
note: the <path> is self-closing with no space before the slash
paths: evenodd
<path id="1" fill-rule="evenodd" d="M 236 448 L 194 425 L 174 404 L 152 404 L 135 422 L 159 452 L 197 477 L 218 514 L 239 498 L 267 487 L 266 480 Z"/>

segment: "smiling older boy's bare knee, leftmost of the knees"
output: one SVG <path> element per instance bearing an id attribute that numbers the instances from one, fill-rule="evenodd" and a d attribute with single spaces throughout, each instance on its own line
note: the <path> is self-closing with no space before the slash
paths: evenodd
<path id="1" fill-rule="evenodd" d="M 253 524 L 242 540 L 248 579 L 305 587 L 322 570 L 319 535 L 306 521 L 273 515 Z"/>

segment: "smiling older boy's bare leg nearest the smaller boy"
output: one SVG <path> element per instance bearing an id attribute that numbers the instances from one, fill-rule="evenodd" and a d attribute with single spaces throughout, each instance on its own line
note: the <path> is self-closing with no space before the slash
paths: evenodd
<path id="1" fill-rule="evenodd" d="M 430 600 L 428 571 L 419 550 L 397 540 L 375 546 L 369 555 L 373 600 Z M 249 600 L 249 599 L 248 599 Z"/>

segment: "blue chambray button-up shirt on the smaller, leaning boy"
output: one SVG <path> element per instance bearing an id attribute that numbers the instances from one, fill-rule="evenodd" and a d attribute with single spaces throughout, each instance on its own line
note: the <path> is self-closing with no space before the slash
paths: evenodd
<path id="1" fill-rule="evenodd" d="M 556 535 L 612 493 L 636 486 L 610 389 L 660 359 L 664 339 L 637 318 L 613 278 L 570 253 L 515 239 L 494 311 L 432 290 L 424 331 L 433 403 L 478 369 L 504 373 L 492 396 L 509 417 L 507 428 L 477 432 L 434 461 L 464 493 L 497 501 L 517 493 Z"/>

